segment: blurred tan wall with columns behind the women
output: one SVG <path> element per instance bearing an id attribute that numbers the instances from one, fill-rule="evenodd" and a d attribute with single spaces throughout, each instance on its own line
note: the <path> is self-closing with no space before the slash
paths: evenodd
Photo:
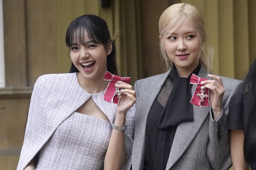
<path id="1" fill-rule="evenodd" d="M 213 73 L 242 80 L 256 58 L 255 0 L 0 0 L 0 170 L 17 167 L 38 76 L 70 69 L 65 33 L 72 20 L 82 14 L 106 20 L 121 75 L 134 84 L 165 72 L 158 21 L 174 3 L 203 13 Z"/>

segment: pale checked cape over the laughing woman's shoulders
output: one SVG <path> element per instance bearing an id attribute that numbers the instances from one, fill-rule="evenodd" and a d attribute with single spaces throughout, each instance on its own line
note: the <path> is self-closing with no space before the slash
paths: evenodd
<path id="1" fill-rule="evenodd" d="M 30 101 L 24 143 L 17 170 L 23 170 L 49 140 L 56 128 L 90 97 L 113 124 L 116 104 L 108 103 L 103 98 L 97 99 L 96 95 L 85 92 L 78 83 L 76 73 L 40 76 L 35 83 Z M 127 130 L 124 139 L 128 155 L 127 164 L 124 167 L 126 170 L 131 166 L 134 112 L 135 107 L 132 107 L 126 116 Z"/>

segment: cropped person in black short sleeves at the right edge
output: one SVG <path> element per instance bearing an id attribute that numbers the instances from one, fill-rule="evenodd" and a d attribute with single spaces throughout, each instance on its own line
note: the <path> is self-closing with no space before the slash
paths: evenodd
<path id="1" fill-rule="evenodd" d="M 230 100 L 230 147 L 234 170 L 256 170 L 256 60 Z"/>

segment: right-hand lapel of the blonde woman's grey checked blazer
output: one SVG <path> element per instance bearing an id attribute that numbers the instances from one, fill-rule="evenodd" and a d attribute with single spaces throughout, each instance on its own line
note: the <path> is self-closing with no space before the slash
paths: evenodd
<path id="1" fill-rule="evenodd" d="M 198 76 L 209 79 L 207 75 L 207 70 L 203 65 L 201 65 Z M 196 86 L 197 85 L 194 84 L 191 88 L 192 96 L 194 95 Z M 169 170 L 180 158 L 180 156 L 185 152 L 185 150 L 197 134 L 198 130 L 200 129 L 201 125 L 203 124 L 206 116 L 209 114 L 211 108 L 212 107 L 197 107 L 193 105 L 194 121 L 183 122 L 179 124 L 176 130 L 173 145 L 171 147 L 166 170 Z"/>

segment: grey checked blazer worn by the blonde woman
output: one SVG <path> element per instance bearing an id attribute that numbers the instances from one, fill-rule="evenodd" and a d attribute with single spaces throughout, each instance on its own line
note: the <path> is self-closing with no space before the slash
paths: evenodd
<path id="1" fill-rule="evenodd" d="M 132 170 L 143 170 L 147 115 L 169 72 L 135 82 L 137 101 Z M 198 76 L 211 79 L 203 65 L 201 65 Z M 221 80 L 226 89 L 221 115 L 213 120 L 212 107 L 193 105 L 194 121 L 183 122 L 177 127 L 166 170 L 227 170 L 231 167 L 230 137 L 226 116 L 230 98 L 241 81 L 226 77 L 221 77 Z M 192 95 L 195 88 L 194 84 L 191 89 Z"/>

